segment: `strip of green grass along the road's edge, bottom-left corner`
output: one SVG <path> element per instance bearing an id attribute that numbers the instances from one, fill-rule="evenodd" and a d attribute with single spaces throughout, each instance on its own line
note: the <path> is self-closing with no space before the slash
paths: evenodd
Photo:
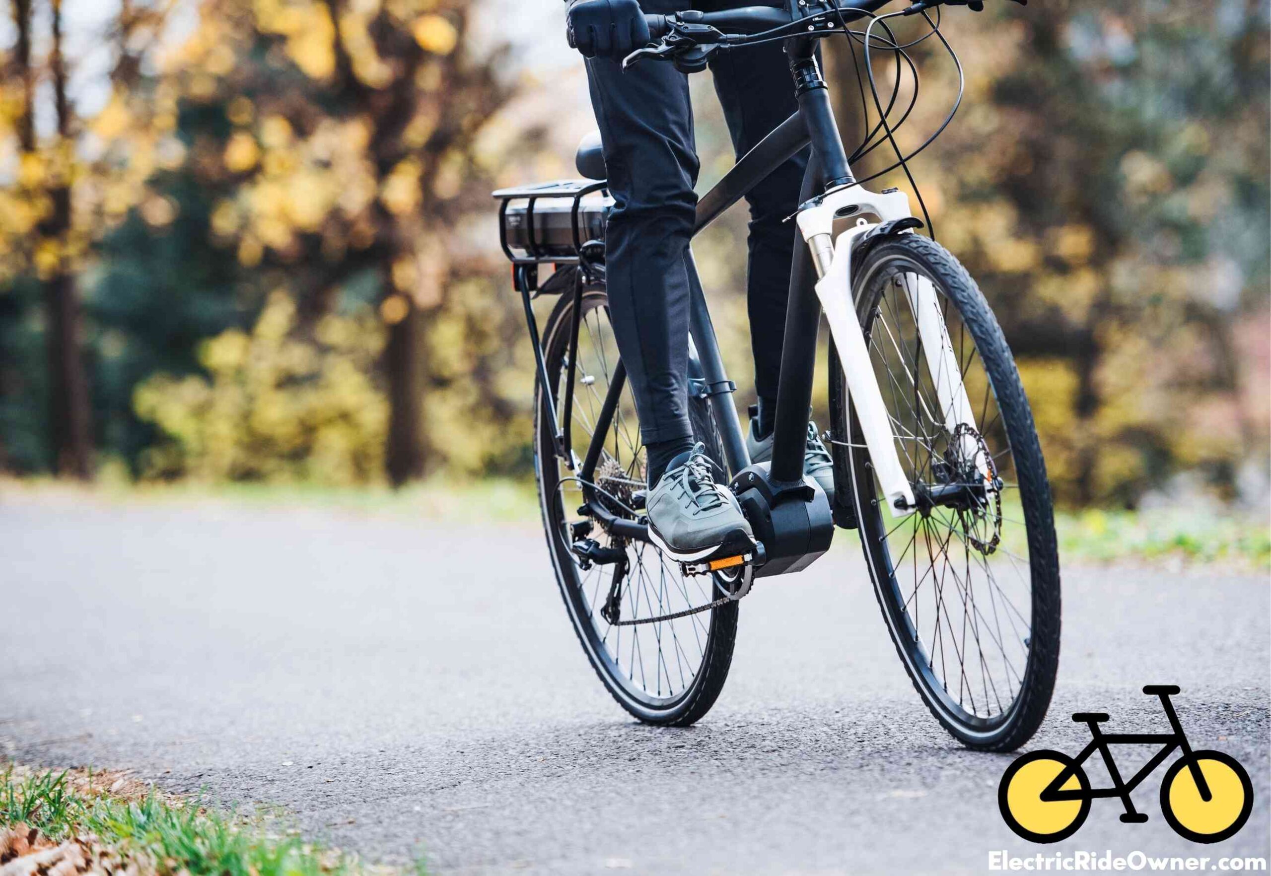
<path id="1" fill-rule="evenodd" d="M 94 837 L 139 872 L 188 876 L 423 876 L 422 859 L 409 870 L 372 867 L 357 857 L 277 832 L 272 819 L 247 819 L 155 792 L 113 795 L 89 773 L 18 770 L 0 773 L 0 832 L 36 828 L 53 842 Z"/>

